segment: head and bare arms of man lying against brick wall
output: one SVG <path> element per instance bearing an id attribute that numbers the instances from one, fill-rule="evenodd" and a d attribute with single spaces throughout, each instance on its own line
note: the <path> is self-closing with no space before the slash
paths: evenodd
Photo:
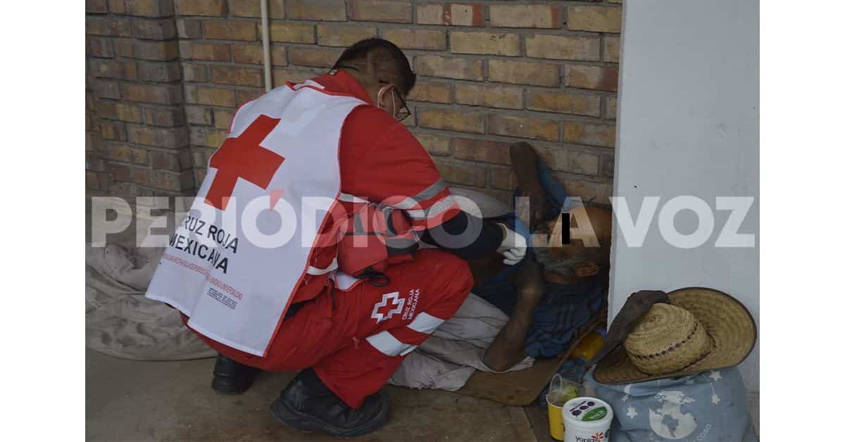
<path id="1" fill-rule="evenodd" d="M 549 244 L 557 246 L 532 248 L 526 259 L 513 266 L 503 265 L 493 254 L 468 261 L 475 280 L 472 292 L 485 297 L 490 281 L 506 279 L 510 286 L 505 284 L 505 290 L 510 288 L 511 292 L 505 296 L 515 298 L 513 307 L 508 308 L 510 319 L 484 353 L 483 362 L 493 371 L 506 371 L 526 357 L 526 337 L 537 307 L 547 292 L 547 282 L 573 284 L 590 277 L 601 279 L 608 270 L 610 255 L 610 210 L 567 203 L 569 195 L 531 145 L 511 145 L 510 156 L 517 179 L 515 194 L 531 201 L 527 216 L 531 229 L 516 216 L 508 216 L 507 221 L 515 232 L 525 237 L 530 237 L 530 230 L 550 234 Z M 561 211 L 571 214 L 575 228 L 594 232 L 595 237 L 562 244 Z"/>

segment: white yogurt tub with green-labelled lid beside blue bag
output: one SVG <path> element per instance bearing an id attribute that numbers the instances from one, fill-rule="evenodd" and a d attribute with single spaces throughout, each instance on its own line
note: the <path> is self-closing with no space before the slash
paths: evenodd
<path id="1" fill-rule="evenodd" d="M 564 442 L 607 442 L 613 408 L 595 397 L 576 397 L 564 404 Z"/>

